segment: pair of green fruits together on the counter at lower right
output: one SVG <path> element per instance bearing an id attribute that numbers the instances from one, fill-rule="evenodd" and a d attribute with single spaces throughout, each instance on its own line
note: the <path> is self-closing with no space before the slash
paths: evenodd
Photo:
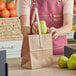
<path id="1" fill-rule="evenodd" d="M 68 67 L 70 70 L 76 70 L 76 54 L 72 54 L 70 58 L 60 56 L 58 59 L 58 65 L 60 68 Z"/>

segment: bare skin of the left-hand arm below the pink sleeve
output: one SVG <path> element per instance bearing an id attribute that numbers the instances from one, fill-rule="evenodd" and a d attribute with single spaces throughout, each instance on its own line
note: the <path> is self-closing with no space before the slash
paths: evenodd
<path id="1" fill-rule="evenodd" d="M 21 15 L 20 16 L 21 21 L 21 32 L 23 36 L 26 36 L 30 33 L 30 19 L 27 15 Z"/>

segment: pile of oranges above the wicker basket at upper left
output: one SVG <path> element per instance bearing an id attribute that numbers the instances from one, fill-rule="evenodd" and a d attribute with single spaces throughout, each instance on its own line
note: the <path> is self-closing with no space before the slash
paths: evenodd
<path id="1" fill-rule="evenodd" d="M 0 1 L 0 17 L 8 18 L 16 16 L 17 16 L 16 4 L 13 1 L 7 4 L 3 0 Z"/>

